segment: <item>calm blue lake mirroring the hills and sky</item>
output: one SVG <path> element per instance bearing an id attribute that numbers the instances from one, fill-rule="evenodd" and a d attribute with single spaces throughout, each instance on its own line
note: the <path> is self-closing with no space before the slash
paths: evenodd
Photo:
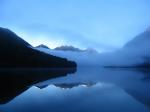
<path id="1" fill-rule="evenodd" d="M 48 70 L 20 71 L 18 74 L 24 75 L 15 75 L 15 80 L 10 81 L 6 80 L 5 72 L 0 72 L 3 91 L 0 112 L 150 111 L 148 69 L 80 67 L 75 73 L 54 71 L 51 74 L 61 74 L 61 77 L 43 78 L 50 73 Z M 26 78 L 32 74 L 29 77 L 32 80 Z"/>

